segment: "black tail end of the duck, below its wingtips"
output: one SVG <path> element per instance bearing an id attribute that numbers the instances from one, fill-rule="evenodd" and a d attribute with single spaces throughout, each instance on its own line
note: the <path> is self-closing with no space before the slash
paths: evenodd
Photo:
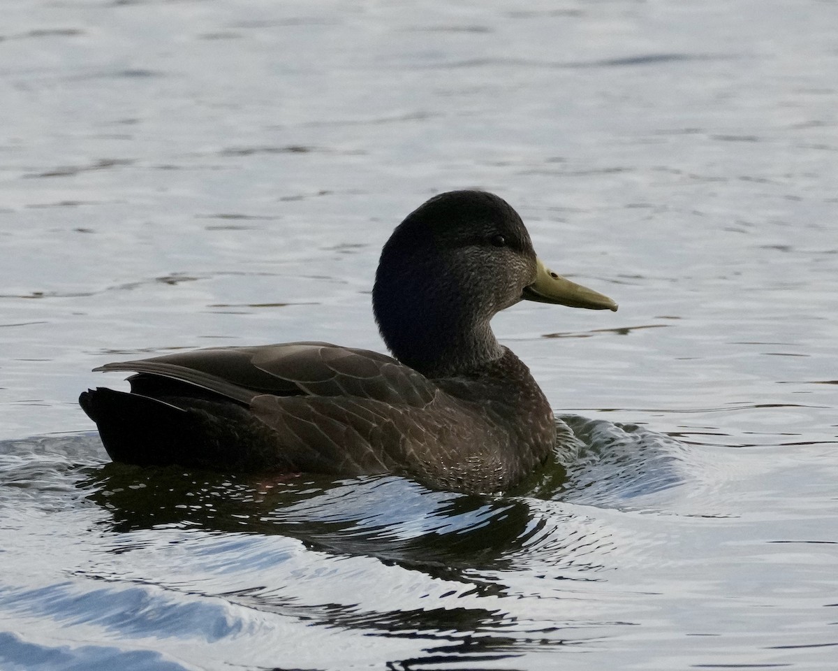
<path id="1" fill-rule="evenodd" d="M 114 461 L 186 466 L 199 457 L 195 441 L 204 434 L 204 427 L 194 412 L 104 387 L 83 392 L 79 404 L 96 422 L 105 450 Z"/>

